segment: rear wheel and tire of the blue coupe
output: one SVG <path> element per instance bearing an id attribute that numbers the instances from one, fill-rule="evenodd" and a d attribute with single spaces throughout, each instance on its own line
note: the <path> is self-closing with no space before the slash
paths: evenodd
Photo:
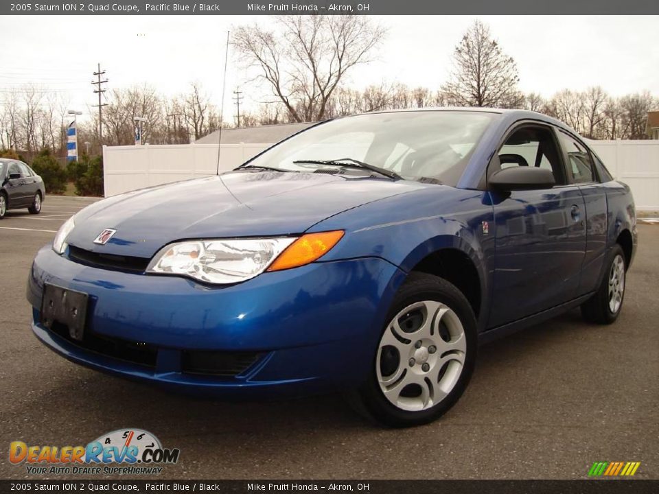
<path id="1" fill-rule="evenodd" d="M 597 292 L 581 304 L 581 315 L 586 321 L 609 325 L 618 318 L 625 299 L 626 268 L 625 252 L 616 244 L 608 257 Z"/>

